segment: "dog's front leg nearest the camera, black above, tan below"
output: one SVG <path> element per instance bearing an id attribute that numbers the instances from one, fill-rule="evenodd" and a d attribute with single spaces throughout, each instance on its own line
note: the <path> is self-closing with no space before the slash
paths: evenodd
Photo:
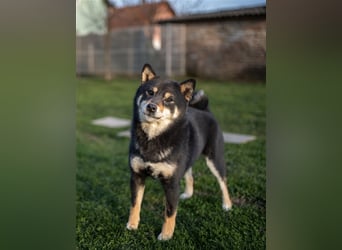
<path id="1" fill-rule="evenodd" d="M 177 205 L 179 199 L 179 181 L 169 180 L 162 182 L 165 196 L 165 221 L 158 240 L 169 240 L 173 236 L 176 226 Z"/>

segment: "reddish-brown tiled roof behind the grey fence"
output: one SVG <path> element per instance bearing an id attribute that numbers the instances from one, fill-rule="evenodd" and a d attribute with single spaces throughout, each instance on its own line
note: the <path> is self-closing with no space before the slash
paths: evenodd
<path id="1" fill-rule="evenodd" d="M 146 3 L 111 10 L 110 29 L 142 26 L 170 19 L 175 12 L 168 2 Z"/>

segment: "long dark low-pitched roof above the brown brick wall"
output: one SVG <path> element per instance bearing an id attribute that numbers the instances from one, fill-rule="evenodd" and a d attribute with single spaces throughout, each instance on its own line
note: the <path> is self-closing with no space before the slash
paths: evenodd
<path id="1" fill-rule="evenodd" d="M 261 7 L 250 7 L 243 9 L 225 10 L 214 13 L 205 14 L 193 14 L 187 16 L 180 16 L 170 18 L 167 20 L 160 20 L 158 23 L 186 23 L 186 22 L 198 22 L 198 21 L 209 21 L 217 19 L 232 19 L 241 17 L 253 17 L 253 16 L 266 16 L 266 6 Z"/>

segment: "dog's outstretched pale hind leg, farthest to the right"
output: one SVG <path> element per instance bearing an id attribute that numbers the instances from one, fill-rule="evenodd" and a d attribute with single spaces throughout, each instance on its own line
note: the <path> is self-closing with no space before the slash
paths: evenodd
<path id="1" fill-rule="evenodd" d="M 229 197 L 229 192 L 226 184 L 226 177 L 225 177 L 225 165 L 224 165 L 224 159 L 212 160 L 209 157 L 205 158 L 207 166 L 209 167 L 210 171 L 213 173 L 213 175 L 216 177 L 221 191 L 222 191 L 222 208 L 225 211 L 228 211 L 232 208 L 232 202 Z"/>

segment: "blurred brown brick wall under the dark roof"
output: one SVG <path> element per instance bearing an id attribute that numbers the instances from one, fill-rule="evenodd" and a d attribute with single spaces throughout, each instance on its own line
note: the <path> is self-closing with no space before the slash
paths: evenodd
<path id="1" fill-rule="evenodd" d="M 265 81 L 266 19 L 187 24 L 186 72 L 221 80 Z"/>

